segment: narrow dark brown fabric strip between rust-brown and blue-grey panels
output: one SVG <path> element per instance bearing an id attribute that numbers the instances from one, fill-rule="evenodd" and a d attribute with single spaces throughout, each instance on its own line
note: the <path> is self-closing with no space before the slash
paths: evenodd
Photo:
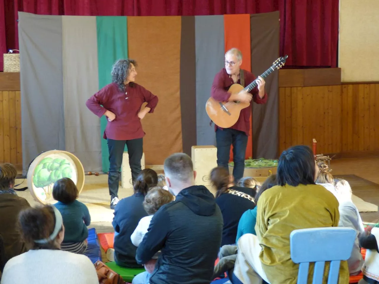
<path id="1" fill-rule="evenodd" d="M 180 105 L 183 152 L 191 156 L 196 145 L 196 45 L 195 17 L 182 17 L 180 42 Z"/>

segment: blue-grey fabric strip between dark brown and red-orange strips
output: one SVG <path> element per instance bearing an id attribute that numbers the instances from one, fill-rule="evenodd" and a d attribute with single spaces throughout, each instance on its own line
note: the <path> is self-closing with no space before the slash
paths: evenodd
<path id="1" fill-rule="evenodd" d="M 196 137 L 197 145 L 215 145 L 214 124 L 205 112 L 213 78 L 224 67 L 224 16 L 196 16 Z"/>

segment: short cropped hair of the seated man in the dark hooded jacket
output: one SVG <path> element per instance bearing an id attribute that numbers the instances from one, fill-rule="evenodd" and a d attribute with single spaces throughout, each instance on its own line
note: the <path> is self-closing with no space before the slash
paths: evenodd
<path id="1" fill-rule="evenodd" d="M 193 178 L 193 163 L 185 153 L 175 153 L 164 160 L 164 173 L 168 178 L 187 182 Z"/>

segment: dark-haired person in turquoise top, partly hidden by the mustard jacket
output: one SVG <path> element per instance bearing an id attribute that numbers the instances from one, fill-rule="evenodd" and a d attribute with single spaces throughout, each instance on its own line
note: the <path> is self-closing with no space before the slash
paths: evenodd
<path id="1" fill-rule="evenodd" d="M 267 189 L 276 186 L 276 175 L 269 176 L 266 181 L 259 188 L 257 194 L 255 195 L 255 203 L 258 202 L 260 195 Z M 244 234 L 254 234 L 255 235 L 255 223 L 257 221 L 257 206 L 254 209 L 249 209 L 242 214 L 240 222 L 238 222 L 237 237 L 238 239 Z M 229 272 L 234 268 L 234 264 L 237 258 L 237 246 L 236 245 L 224 245 L 221 247 L 219 252 L 219 262 L 215 266 L 213 272 L 213 278 L 219 277 L 225 272 Z M 230 274 L 230 273 L 229 273 Z"/>

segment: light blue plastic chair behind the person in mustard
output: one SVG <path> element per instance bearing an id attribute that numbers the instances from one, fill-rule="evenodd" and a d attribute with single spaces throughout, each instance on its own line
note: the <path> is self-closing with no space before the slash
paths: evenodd
<path id="1" fill-rule="evenodd" d="M 290 234 L 291 259 L 300 264 L 298 284 L 307 283 L 309 263 L 315 262 L 313 284 L 322 284 L 324 266 L 330 261 L 328 284 L 337 284 L 340 262 L 349 259 L 356 231 L 347 227 L 294 230 Z"/>

